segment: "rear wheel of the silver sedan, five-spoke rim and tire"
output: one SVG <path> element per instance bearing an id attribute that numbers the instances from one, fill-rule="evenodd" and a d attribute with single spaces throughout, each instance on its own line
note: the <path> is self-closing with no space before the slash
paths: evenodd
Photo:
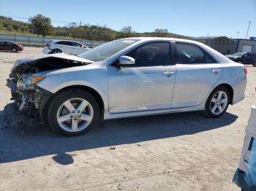
<path id="1" fill-rule="evenodd" d="M 208 117 L 220 117 L 230 103 L 230 93 L 224 86 L 215 88 L 206 101 L 205 113 Z"/>

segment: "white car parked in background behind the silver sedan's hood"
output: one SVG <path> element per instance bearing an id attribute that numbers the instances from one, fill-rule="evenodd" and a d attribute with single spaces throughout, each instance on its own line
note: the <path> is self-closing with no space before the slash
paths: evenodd
<path id="1" fill-rule="evenodd" d="M 45 54 L 64 52 L 71 55 L 80 55 L 87 50 L 90 50 L 90 48 L 86 47 L 84 44 L 80 44 L 79 42 L 69 40 L 51 40 L 45 44 L 45 48 L 42 52 Z"/>

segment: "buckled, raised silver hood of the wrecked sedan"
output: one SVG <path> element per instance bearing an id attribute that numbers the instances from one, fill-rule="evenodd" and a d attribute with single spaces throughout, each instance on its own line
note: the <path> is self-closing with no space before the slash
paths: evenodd
<path id="1" fill-rule="evenodd" d="M 37 60 L 43 60 L 47 58 L 61 58 L 69 61 L 77 61 L 79 63 L 92 63 L 93 61 L 89 61 L 85 58 L 80 58 L 75 55 L 67 55 L 65 53 L 57 53 L 57 54 L 50 54 L 50 55 L 40 55 L 40 56 L 32 56 L 29 58 L 23 58 L 23 59 L 18 59 L 15 64 L 12 66 L 11 71 L 15 69 L 17 66 L 23 65 L 25 63 L 32 63 Z"/>

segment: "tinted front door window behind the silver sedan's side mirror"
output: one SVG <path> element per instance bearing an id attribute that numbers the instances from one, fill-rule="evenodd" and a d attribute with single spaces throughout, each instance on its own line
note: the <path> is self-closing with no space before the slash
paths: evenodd
<path id="1" fill-rule="evenodd" d="M 170 42 L 150 42 L 127 53 L 136 67 L 170 65 Z"/>

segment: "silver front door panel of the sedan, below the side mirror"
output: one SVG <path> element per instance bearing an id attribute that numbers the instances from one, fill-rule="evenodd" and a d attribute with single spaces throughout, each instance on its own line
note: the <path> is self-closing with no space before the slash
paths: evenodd
<path id="1" fill-rule="evenodd" d="M 108 66 L 108 74 L 110 113 L 171 109 L 176 66 Z"/>

